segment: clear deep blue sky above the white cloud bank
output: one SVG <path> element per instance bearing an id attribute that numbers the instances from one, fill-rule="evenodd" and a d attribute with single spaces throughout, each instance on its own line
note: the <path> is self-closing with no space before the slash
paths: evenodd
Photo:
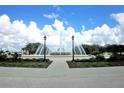
<path id="1" fill-rule="evenodd" d="M 86 30 L 103 24 L 114 27 L 117 22 L 110 15 L 122 12 L 124 12 L 124 6 L 120 5 L 0 6 L 0 15 L 7 14 L 11 21 L 23 20 L 26 25 L 29 25 L 30 21 L 34 21 L 39 28 L 42 28 L 45 24 L 52 24 L 55 20 L 43 15 L 54 13 L 59 15 L 57 19 L 66 21 L 68 23 L 66 25 L 73 26 L 76 31 L 81 31 L 82 25 Z"/>

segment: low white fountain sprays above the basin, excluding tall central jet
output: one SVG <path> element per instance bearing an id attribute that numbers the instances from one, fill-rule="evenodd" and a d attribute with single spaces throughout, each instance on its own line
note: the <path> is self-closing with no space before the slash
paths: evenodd
<path id="1" fill-rule="evenodd" d="M 37 48 L 35 55 L 43 55 L 44 54 L 44 46 L 41 44 Z M 86 52 L 83 46 L 75 46 L 74 48 L 75 55 L 86 55 Z M 46 47 L 46 55 L 72 55 L 72 48 L 67 47 L 57 47 L 57 46 L 47 46 Z"/>

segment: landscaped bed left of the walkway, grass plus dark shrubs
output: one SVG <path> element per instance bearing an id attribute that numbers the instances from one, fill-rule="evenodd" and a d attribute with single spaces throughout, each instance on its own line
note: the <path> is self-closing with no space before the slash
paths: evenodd
<path id="1" fill-rule="evenodd" d="M 29 68 L 47 68 L 52 61 L 49 59 L 22 59 L 16 52 L 7 57 L 5 52 L 0 51 L 0 66 L 2 67 L 29 67 Z"/>

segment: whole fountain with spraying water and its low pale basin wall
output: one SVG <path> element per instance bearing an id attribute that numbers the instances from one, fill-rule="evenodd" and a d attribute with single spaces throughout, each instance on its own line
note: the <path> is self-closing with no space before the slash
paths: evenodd
<path id="1" fill-rule="evenodd" d="M 49 36 L 46 39 L 46 56 L 49 59 L 56 57 L 63 57 L 65 59 L 72 58 L 72 35 L 64 36 L 65 34 L 62 31 L 59 32 L 59 36 L 53 35 L 50 36 L 55 38 L 52 40 Z M 75 37 L 74 42 L 74 55 L 75 59 L 89 59 L 91 56 L 87 55 L 85 49 L 81 44 L 79 44 L 78 39 Z M 43 40 L 42 40 L 43 41 Z M 52 42 L 52 43 L 51 43 Z M 23 59 L 32 59 L 32 58 L 43 58 L 44 57 L 44 45 L 43 42 L 38 46 L 34 55 L 22 55 Z"/>

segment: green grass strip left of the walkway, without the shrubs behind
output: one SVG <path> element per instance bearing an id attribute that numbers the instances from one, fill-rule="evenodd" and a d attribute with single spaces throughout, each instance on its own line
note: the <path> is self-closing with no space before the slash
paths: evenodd
<path id="1" fill-rule="evenodd" d="M 0 62 L 1 67 L 28 67 L 28 68 L 47 68 L 52 62 L 42 62 L 42 61 L 4 61 Z"/>

